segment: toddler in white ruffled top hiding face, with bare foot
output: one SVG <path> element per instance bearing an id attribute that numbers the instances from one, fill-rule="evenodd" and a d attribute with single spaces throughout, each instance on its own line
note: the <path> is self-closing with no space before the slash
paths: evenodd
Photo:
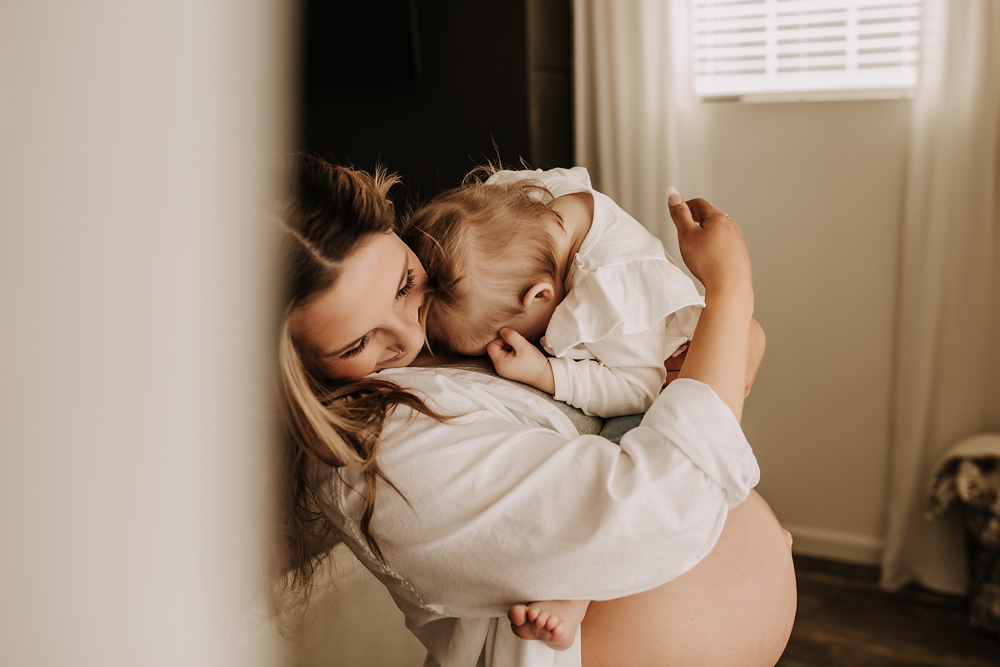
<path id="1" fill-rule="evenodd" d="M 645 412 L 704 307 L 663 244 L 583 167 L 480 168 L 414 213 L 403 239 L 429 276 L 432 344 L 489 354 L 501 377 L 588 415 Z M 515 605 L 508 617 L 519 637 L 566 649 L 588 604 Z"/>

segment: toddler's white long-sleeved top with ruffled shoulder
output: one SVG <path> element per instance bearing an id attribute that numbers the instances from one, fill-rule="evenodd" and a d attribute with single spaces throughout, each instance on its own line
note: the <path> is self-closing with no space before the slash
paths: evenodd
<path id="1" fill-rule="evenodd" d="M 487 181 L 541 181 L 553 197 L 589 192 L 594 221 L 573 259 L 542 346 L 555 398 L 588 415 L 645 412 L 666 379 L 664 360 L 691 339 L 705 306 L 659 239 L 590 186 L 583 167 L 501 171 Z"/>

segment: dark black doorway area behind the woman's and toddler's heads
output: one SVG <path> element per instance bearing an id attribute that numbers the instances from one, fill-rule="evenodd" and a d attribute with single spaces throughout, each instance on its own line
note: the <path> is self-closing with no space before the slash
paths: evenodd
<path id="1" fill-rule="evenodd" d="M 569 0 L 307 0 L 301 146 L 410 202 L 498 152 L 572 166 L 571 32 Z"/>

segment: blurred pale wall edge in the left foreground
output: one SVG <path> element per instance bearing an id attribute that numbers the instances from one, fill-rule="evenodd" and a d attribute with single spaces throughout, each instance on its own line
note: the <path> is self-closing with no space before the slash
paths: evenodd
<path id="1" fill-rule="evenodd" d="M 275 664 L 280 0 L 0 8 L 7 665 Z"/>

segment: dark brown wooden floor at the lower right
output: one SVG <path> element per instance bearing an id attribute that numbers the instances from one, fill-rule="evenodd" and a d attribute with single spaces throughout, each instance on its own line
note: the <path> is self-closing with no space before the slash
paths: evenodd
<path id="1" fill-rule="evenodd" d="M 799 610 L 778 667 L 1000 667 L 1000 640 L 969 627 L 964 600 L 887 593 L 874 567 L 795 558 Z"/>

